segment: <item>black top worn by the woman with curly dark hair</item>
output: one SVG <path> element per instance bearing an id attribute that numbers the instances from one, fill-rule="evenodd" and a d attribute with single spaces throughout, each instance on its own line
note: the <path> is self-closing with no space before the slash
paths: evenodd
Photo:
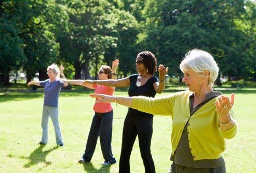
<path id="1" fill-rule="evenodd" d="M 147 80 L 147 82 L 144 84 L 144 85 L 141 85 L 141 86 L 137 86 L 136 85 L 136 81 L 137 81 L 137 78 L 138 78 L 138 74 L 132 74 L 129 76 L 130 78 L 130 88 L 129 88 L 129 91 L 128 91 L 128 95 L 129 97 L 132 97 L 132 96 L 147 96 L 147 97 L 155 97 L 156 95 L 156 91 L 155 91 L 155 88 L 154 88 L 154 83 L 155 82 L 159 82 L 159 79 L 158 77 L 156 76 L 152 76 L 151 78 L 149 78 L 149 80 Z M 141 111 L 138 111 L 137 109 L 133 109 L 133 108 L 130 108 L 129 107 L 129 111 L 128 111 L 128 114 L 131 113 L 131 114 L 143 114 L 143 116 L 150 116 L 150 117 L 153 117 L 152 114 L 148 114 L 148 113 L 144 113 L 144 112 L 141 112 Z"/>

